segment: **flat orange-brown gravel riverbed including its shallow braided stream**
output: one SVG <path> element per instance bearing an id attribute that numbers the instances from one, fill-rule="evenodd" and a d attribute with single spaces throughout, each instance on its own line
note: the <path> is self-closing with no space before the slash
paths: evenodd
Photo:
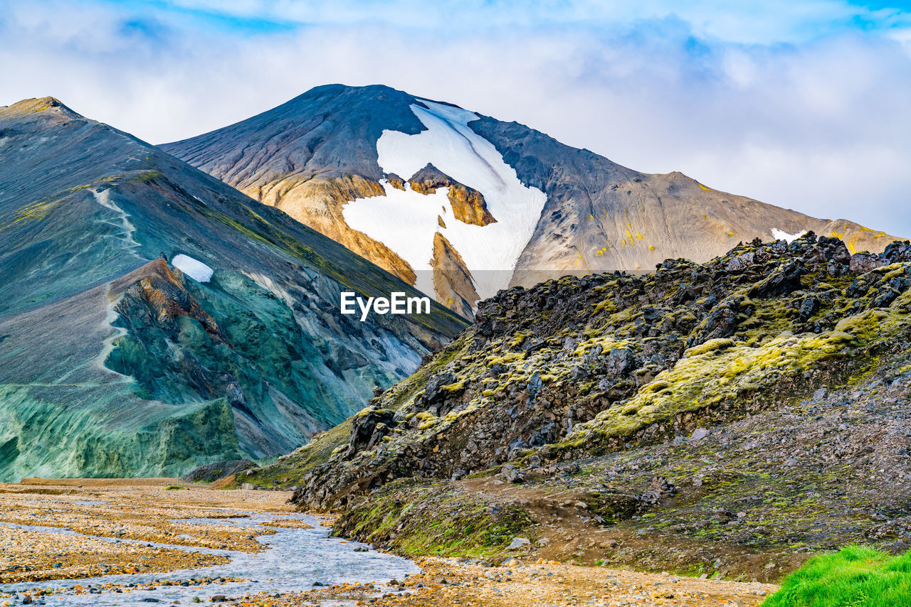
<path id="1" fill-rule="evenodd" d="M 281 491 L 171 479 L 0 485 L 0 605 L 758 605 L 775 586 L 507 561 L 407 561 L 328 538 Z"/>

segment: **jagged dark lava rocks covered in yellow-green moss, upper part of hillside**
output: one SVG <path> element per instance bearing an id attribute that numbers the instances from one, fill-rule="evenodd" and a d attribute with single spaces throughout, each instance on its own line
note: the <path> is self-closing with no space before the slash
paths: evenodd
<path id="1" fill-rule="evenodd" d="M 852 269 L 844 243 L 811 233 L 753 241 L 706 264 L 669 259 L 646 276 L 502 291 L 479 304 L 472 329 L 374 403 L 395 411 L 385 424 L 394 430 L 312 466 L 294 500 L 340 506 L 396 478 L 461 478 L 533 455 L 674 440 L 823 382 L 849 385 L 911 330 L 909 264 L 881 258 Z"/>

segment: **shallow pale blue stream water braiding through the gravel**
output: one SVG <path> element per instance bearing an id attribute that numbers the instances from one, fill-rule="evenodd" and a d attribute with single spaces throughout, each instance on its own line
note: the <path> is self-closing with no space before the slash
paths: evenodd
<path id="1" fill-rule="evenodd" d="M 244 513 L 246 514 L 246 512 Z M 343 582 L 384 583 L 393 578 L 402 579 L 406 575 L 414 575 L 419 572 L 414 562 L 392 554 L 376 551 L 355 552 L 355 548 L 365 547 L 364 544 L 354 541 L 343 543 L 342 540 L 337 538 L 330 538 L 329 530 L 322 527 L 316 517 L 296 513 L 250 514 L 250 518 L 244 519 L 192 519 L 186 521 L 230 525 L 233 527 L 251 527 L 261 531 L 260 522 L 297 519 L 306 521 L 313 528 L 270 528 L 276 531 L 274 535 L 261 535 L 257 538 L 257 541 L 269 546 L 270 550 L 259 554 L 169 544 L 151 544 L 161 548 L 229 556 L 231 561 L 223 565 L 199 569 L 182 569 L 166 573 L 107 575 L 83 580 L 3 584 L 0 585 L 0 592 L 22 592 L 34 588 L 71 588 L 76 584 L 86 587 L 89 584 L 92 586 L 105 583 L 146 584 L 148 582 L 181 581 L 193 578 L 223 577 L 244 579 L 243 582 L 211 583 L 203 586 L 161 586 L 154 591 L 134 590 L 122 594 L 107 591 L 100 594 L 55 593 L 42 598 L 46 605 L 148 605 L 149 603 L 144 602 L 144 599 L 157 599 L 161 603 L 177 601 L 179 604 L 184 604 L 191 602 L 193 597 L 199 597 L 203 602 L 210 602 L 211 597 L 218 594 L 236 597 L 257 592 L 302 592 L 312 590 L 313 582 L 329 585 Z M 76 531 L 53 527 L 0 524 L 37 532 L 82 535 Z M 118 540 L 116 538 L 98 539 L 124 543 L 135 542 L 144 545 L 150 543 L 148 541 Z"/>

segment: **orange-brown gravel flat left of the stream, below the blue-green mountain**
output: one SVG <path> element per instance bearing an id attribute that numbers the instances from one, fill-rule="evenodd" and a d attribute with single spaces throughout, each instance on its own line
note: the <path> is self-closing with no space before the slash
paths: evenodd
<path id="1" fill-rule="evenodd" d="M 0 522 L 56 527 L 85 535 L 220 550 L 261 551 L 256 536 L 274 533 L 182 518 L 247 517 L 237 511 L 290 511 L 283 491 L 167 489 L 179 479 L 26 479 L 0 484 Z M 0 583 L 72 579 L 102 574 L 168 572 L 226 559 L 207 554 L 112 544 L 78 535 L 23 531 L 0 525 Z"/>

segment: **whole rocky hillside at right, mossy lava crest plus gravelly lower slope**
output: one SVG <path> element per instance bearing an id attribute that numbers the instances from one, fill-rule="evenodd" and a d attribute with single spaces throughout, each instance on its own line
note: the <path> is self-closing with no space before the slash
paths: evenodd
<path id="1" fill-rule="evenodd" d="M 537 534 L 521 553 L 773 580 L 844 543 L 906 548 L 909 287 L 908 242 L 852 255 L 808 234 L 511 288 L 411 378 L 249 478 L 405 551 Z M 509 537 L 422 535 L 460 517 Z"/>

